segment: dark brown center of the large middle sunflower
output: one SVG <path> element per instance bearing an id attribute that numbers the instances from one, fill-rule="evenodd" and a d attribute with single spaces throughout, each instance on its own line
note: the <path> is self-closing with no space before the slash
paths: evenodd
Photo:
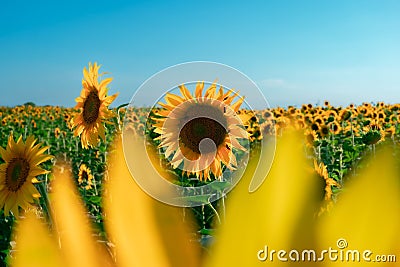
<path id="1" fill-rule="evenodd" d="M 214 152 L 215 147 L 218 147 L 224 142 L 226 134 L 227 131 L 225 127 L 218 121 L 211 118 L 200 117 L 190 120 L 183 126 L 179 134 L 179 141 L 193 152 L 201 154 L 200 142 L 209 138 L 213 141 L 215 146 L 206 145 L 201 152 L 210 153 Z"/>

